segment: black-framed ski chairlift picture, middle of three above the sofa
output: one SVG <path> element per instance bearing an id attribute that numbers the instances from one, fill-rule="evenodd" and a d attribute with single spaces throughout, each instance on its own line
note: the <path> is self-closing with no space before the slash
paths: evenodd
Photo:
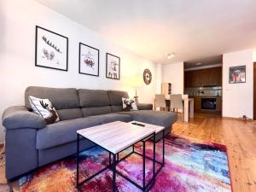
<path id="1" fill-rule="evenodd" d="M 99 49 L 79 44 L 79 73 L 99 76 Z"/>

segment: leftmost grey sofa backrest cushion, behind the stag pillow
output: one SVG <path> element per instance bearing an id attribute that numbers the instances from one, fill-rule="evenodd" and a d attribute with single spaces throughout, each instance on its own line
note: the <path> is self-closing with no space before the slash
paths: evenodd
<path id="1" fill-rule="evenodd" d="M 25 106 L 32 110 L 28 96 L 49 99 L 61 120 L 82 118 L 78 90 L 74 88 L 49 88 L 30 86 L 25 90 Z"/>

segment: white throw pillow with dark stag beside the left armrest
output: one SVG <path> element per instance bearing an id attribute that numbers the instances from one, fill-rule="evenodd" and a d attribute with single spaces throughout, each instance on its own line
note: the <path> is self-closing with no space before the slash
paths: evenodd
<path id="1" fill-rule="evenodd" d="M 58 113 L 49 99 L 40 99 L 35 96 L 28 96 L 28 100 L 34 113 L 41 115 L 46 124 L 53 124 L 60 120 Z"/>

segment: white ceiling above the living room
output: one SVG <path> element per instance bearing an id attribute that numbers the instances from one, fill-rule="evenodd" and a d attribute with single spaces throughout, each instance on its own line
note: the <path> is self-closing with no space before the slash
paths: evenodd
<path id="1" fill-rule="evenodd" d="M 37 1 L 155 63 L 256 48 L 256 0 Z"/>

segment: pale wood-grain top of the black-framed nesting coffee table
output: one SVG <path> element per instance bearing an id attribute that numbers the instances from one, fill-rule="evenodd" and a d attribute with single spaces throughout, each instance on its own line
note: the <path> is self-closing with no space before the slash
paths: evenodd
<path id="1" fill-rule="evenodd" d="M 85 128 L 77 131 L 77 133 L 113 154 L 118 154 L 132 144 L 141 141 L 144 137 L 150 136 L 154 131 L 156 131 L 156 125 L 151 126 L 147 124 L 145 126 L 138 126 L 132 125 L 131 123 L 115 121 Z"/>

